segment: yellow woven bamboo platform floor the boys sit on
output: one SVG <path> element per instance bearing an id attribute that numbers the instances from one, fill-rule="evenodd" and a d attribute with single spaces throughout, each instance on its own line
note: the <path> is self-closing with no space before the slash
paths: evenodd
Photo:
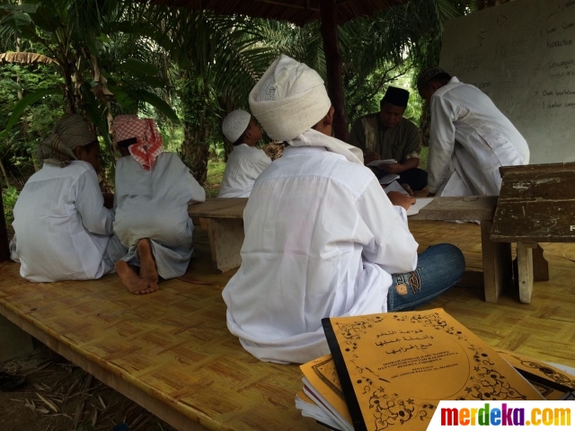
<path id="1" fill-rule="evenodd" d="M 410 224 L 422 248 L 455 243 L 481 270 L 478 225 Z M 221 289 L 233 271 L 214 275 L 201 230 L 196 242 L 186 276 L 152 295 L 129 295 L 115 275 L 33 284 L 4 262 L 0 313 L 178 429 L 325 429 L 295 408 L 296 365 L 259 362 L 228 332 Z M 456 287 L 429 308 L 444 307 L 492 346 L 575 366 L 575 244 L 542 245 L 551 281 L 535 283 L 531 304 L 514 291 L 485 303 L 480 286 Z"/>

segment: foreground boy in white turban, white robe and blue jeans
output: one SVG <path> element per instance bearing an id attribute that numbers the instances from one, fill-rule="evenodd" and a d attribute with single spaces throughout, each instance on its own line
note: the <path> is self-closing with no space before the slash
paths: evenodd
<path id="1" fill-rule="evenodd" d="M 250 107 L 288 144 L 254 183 L 242 266 L 223 292 L 228 329 L 253 356 L 312 360 L 329 353 L 324 317 L 406 310 L 461 277 L 463 255 L 449 244 L 419 265 L 405 212 L 414 199 L 387 198 L 361 150 L 331 137 L 332 103 L 313 69 L 279 57 Z"/>

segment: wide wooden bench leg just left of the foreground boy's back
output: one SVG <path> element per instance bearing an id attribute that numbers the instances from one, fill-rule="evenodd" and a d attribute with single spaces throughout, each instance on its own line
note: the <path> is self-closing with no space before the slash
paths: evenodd
<path id="1" fill-rule="evenodd" d="M 226 272 L 242 264 L 243 220 L 236 218 L 200 218 L 208 231 L 212 265 L 216 272 Z"/>

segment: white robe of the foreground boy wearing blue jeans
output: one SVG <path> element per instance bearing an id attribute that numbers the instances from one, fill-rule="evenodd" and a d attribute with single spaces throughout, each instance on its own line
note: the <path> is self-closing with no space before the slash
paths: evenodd
<path id="1" fill-rule="evenodd" d="M 393 273 L 418 244 L 374 174 L 320 146 L 288 146 L 243 213 L 242 266 L 223 296 L 253 356 L 304 363 L 329 353 L 322 318 L 386 312 Z"/>

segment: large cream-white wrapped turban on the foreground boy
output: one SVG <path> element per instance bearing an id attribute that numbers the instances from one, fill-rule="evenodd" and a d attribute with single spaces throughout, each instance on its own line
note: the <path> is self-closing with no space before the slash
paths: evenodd
<path id="1" fill-rule="evenodd" d="M 281 55 L 250 92 L 250 109 L 268 136 L 289 141 L 313 128 L 332 106 L 321 76 Z"/>

